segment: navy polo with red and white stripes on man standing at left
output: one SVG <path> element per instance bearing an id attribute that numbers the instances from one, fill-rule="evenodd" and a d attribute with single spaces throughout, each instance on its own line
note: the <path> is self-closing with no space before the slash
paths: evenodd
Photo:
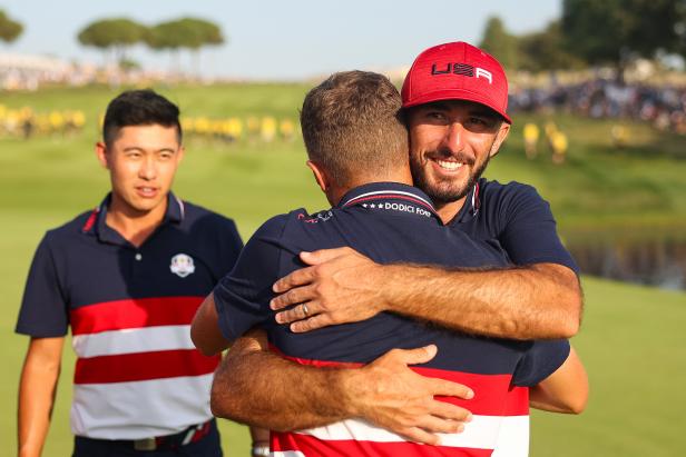
<path id="1" fill-rule="evenodd" d="M 219 360 L 195 349 L 189 325 L 243 244 L 231 219 L 170 193 L 161 225 L 135 247 L 106 223 L 109 201 L 46 234 L 17 332 L 61 337 L 71 328 L 75 434 L 180 431 L 212 417 L 207 395 Z"/>

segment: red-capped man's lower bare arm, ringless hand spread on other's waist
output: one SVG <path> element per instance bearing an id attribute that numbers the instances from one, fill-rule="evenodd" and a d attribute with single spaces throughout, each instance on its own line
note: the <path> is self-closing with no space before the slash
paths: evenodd
<path id="1" fill-rule="evenodd" d="M 357 417 L 411 440 L 437 444 L 435 433 L 459 431 L 471 415 L 433 397 L 471 398 L 473 393 L 408 368 L 432 359 L 435 350 L 394 349 L 363 368 L 314 368 L 268 352 L 264 332 L 252 330 L 236 340 L 217 370 L 212 410 L 273 430 Z"/>

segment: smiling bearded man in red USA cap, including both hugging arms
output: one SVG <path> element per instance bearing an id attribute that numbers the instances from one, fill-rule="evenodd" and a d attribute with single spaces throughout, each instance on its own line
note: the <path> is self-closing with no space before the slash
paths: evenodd
<path id="1" fill-rule="evenodd" d="M 281 310 L 277 322 L 291 322 L 291 329 L 300 332 L 392 311 L 510 339 L 577 332 L 581 307 L 577 267 L 557 237 L 548 203 L 529 186 L 479 179 L 509 133 L 507 92 L 507 78 L 496 59 L 458 42 L 420 54 L 402 98 L 415 185 L 432 198 L 444 223 L 499 244 L 518 267 L 444 270 L 382 266 L 350 248 L 304 252 L 301 259 L 312 267 L 274 286 L 285 292 L 272 301 L 272 308 Z M 441 409 L 431 387 L 412 377 L 405 365 L 424 362 L 431 354 L 384 356 L 362 368 L 353 386 L 335 372 L 322 375 L 276 359 L 261 350 L 265 346 L 258 336 L 239 339 L 215 379 L 215 386 L 243 387 L 232 407 L 245 407 L 243 417 L 251 420 L 297 428 L 304 417 L 325 423 L 363 416 L 430 444 L 438 440 L 433 433 L 454 426 L 457 415 Z M 246 391 L 255 370 L 261 383 Z M 375 397 L 364 397 L 372 405 L 364 411 L 349 407 L 364 388 L 376 390 Z M 267 398 L 271 405 L 265 405 Z"/>

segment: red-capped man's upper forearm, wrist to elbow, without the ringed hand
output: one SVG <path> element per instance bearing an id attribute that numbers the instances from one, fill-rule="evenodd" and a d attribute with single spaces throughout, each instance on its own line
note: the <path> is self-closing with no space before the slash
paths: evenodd
<path id="1" fill-rule="evenodd" d="M 481 271 L 410 265 L 380 268 L 386 310 L 501 338 L 569 338 L 579 328 L 579 282 L 559 265 Z"/>

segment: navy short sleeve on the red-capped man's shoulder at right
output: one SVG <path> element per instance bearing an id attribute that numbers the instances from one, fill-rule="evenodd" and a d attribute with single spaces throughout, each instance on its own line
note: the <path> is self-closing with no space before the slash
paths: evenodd
<path id="1" fill-rule="evenodd" d="M 506 190 L 507 189 L 507 190 Z M 579 275 L 579 267 L 557 235 L 550 205 L 531 186 L 510 183 L 500 208 L 499 241 L 516 265 L 559 264 Z"/>

